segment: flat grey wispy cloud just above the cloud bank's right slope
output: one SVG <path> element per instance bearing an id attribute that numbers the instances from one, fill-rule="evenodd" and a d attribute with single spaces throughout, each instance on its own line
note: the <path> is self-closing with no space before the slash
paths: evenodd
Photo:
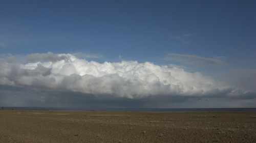
<path id="1" fill-rule="evenodd" d="M 221 57 L 221 59 L 223 59 L 223 56 Z M 213 67 L 226 65 L 226 63 L 222 61 L 220 58 L 206 58 L 194 54 L 168 53 L 164 59 L 167 61 L 175 61 L 185 65 L 193 65 L 199 67 Z"/>

